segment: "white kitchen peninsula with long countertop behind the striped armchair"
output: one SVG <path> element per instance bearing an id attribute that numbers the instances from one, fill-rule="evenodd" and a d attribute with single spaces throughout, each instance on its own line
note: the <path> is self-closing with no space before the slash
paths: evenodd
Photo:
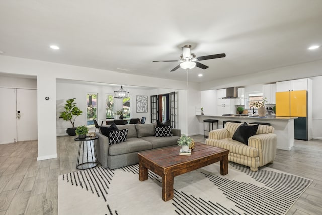
<path id="1" fill-rule="evenodd" d="M 199 131 L 203 134 L 203 120 L 216 119 L 219 121 L 219 128 L 223 128 L 223 121 L 233 120 L 240 121 L 241 123 L 251 122 L 266 122 L 270 123 L 274 127 L 274 133 L 277 135 L 277 149 L 291 150 L 294 146 L 294 119 L 297 117 L 285 117 L 285 116 L 213 116 L 213 115 L 196 115 L 199 121 Z M 215 129 L 215 127 L 214 127 Z"/>

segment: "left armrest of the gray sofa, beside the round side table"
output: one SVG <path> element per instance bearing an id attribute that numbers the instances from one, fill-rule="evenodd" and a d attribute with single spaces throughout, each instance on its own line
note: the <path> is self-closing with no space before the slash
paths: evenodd
<path id="1" fill-rule="evenodd" d="M 97 160 L 104 168 L 107 168 L 107 158 L 109 156 L 109 138 L 99 132 L 95 132 L 95 136 L 99 137 L 97 140 L 95 140 Z"/>

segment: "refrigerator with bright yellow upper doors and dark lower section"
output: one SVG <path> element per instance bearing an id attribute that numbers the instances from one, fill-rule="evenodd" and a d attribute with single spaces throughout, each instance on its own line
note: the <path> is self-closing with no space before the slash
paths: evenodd
<path id="1" fill-rule="evenodd" d="M 294 138 L 308 140 L 306 90 L 277 92 L 275 114 L 298 117 L 294 119 Z"/>

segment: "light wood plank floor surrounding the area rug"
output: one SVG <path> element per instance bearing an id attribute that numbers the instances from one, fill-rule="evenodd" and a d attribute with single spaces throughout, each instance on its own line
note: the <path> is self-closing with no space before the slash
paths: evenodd
<path id="1" fill-rule="evenodd" d="M 58 158 L 43 161 L 37 161 L 37 141 L 0 144 L 0 215 L 58 214 L 58 175 L 76 171 L 79 145 L 73 139 L 57 137 Z M 267 166 L 314 180 L 287 214 L 321 214 L 321 164 L 322 140 L 296 140 L 291 151 L 277 150 Z"/>

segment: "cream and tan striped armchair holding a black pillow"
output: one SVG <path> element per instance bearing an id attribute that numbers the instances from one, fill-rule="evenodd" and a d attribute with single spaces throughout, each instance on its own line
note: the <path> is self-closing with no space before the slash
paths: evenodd
<path id="1" fill-rule="evenodd" d="M 274 128 L 259 125 L 254 136 L 248 139 L 248 145 L 232 139 L 233 134 L 242 123 L 227 122 L 225 128 L 209 132 L 206 144 L 228 149 L 228 160 L 250 167 L 257 171 L 258 167 L 272 163 L 276 156 L 277 136 Z"/>

